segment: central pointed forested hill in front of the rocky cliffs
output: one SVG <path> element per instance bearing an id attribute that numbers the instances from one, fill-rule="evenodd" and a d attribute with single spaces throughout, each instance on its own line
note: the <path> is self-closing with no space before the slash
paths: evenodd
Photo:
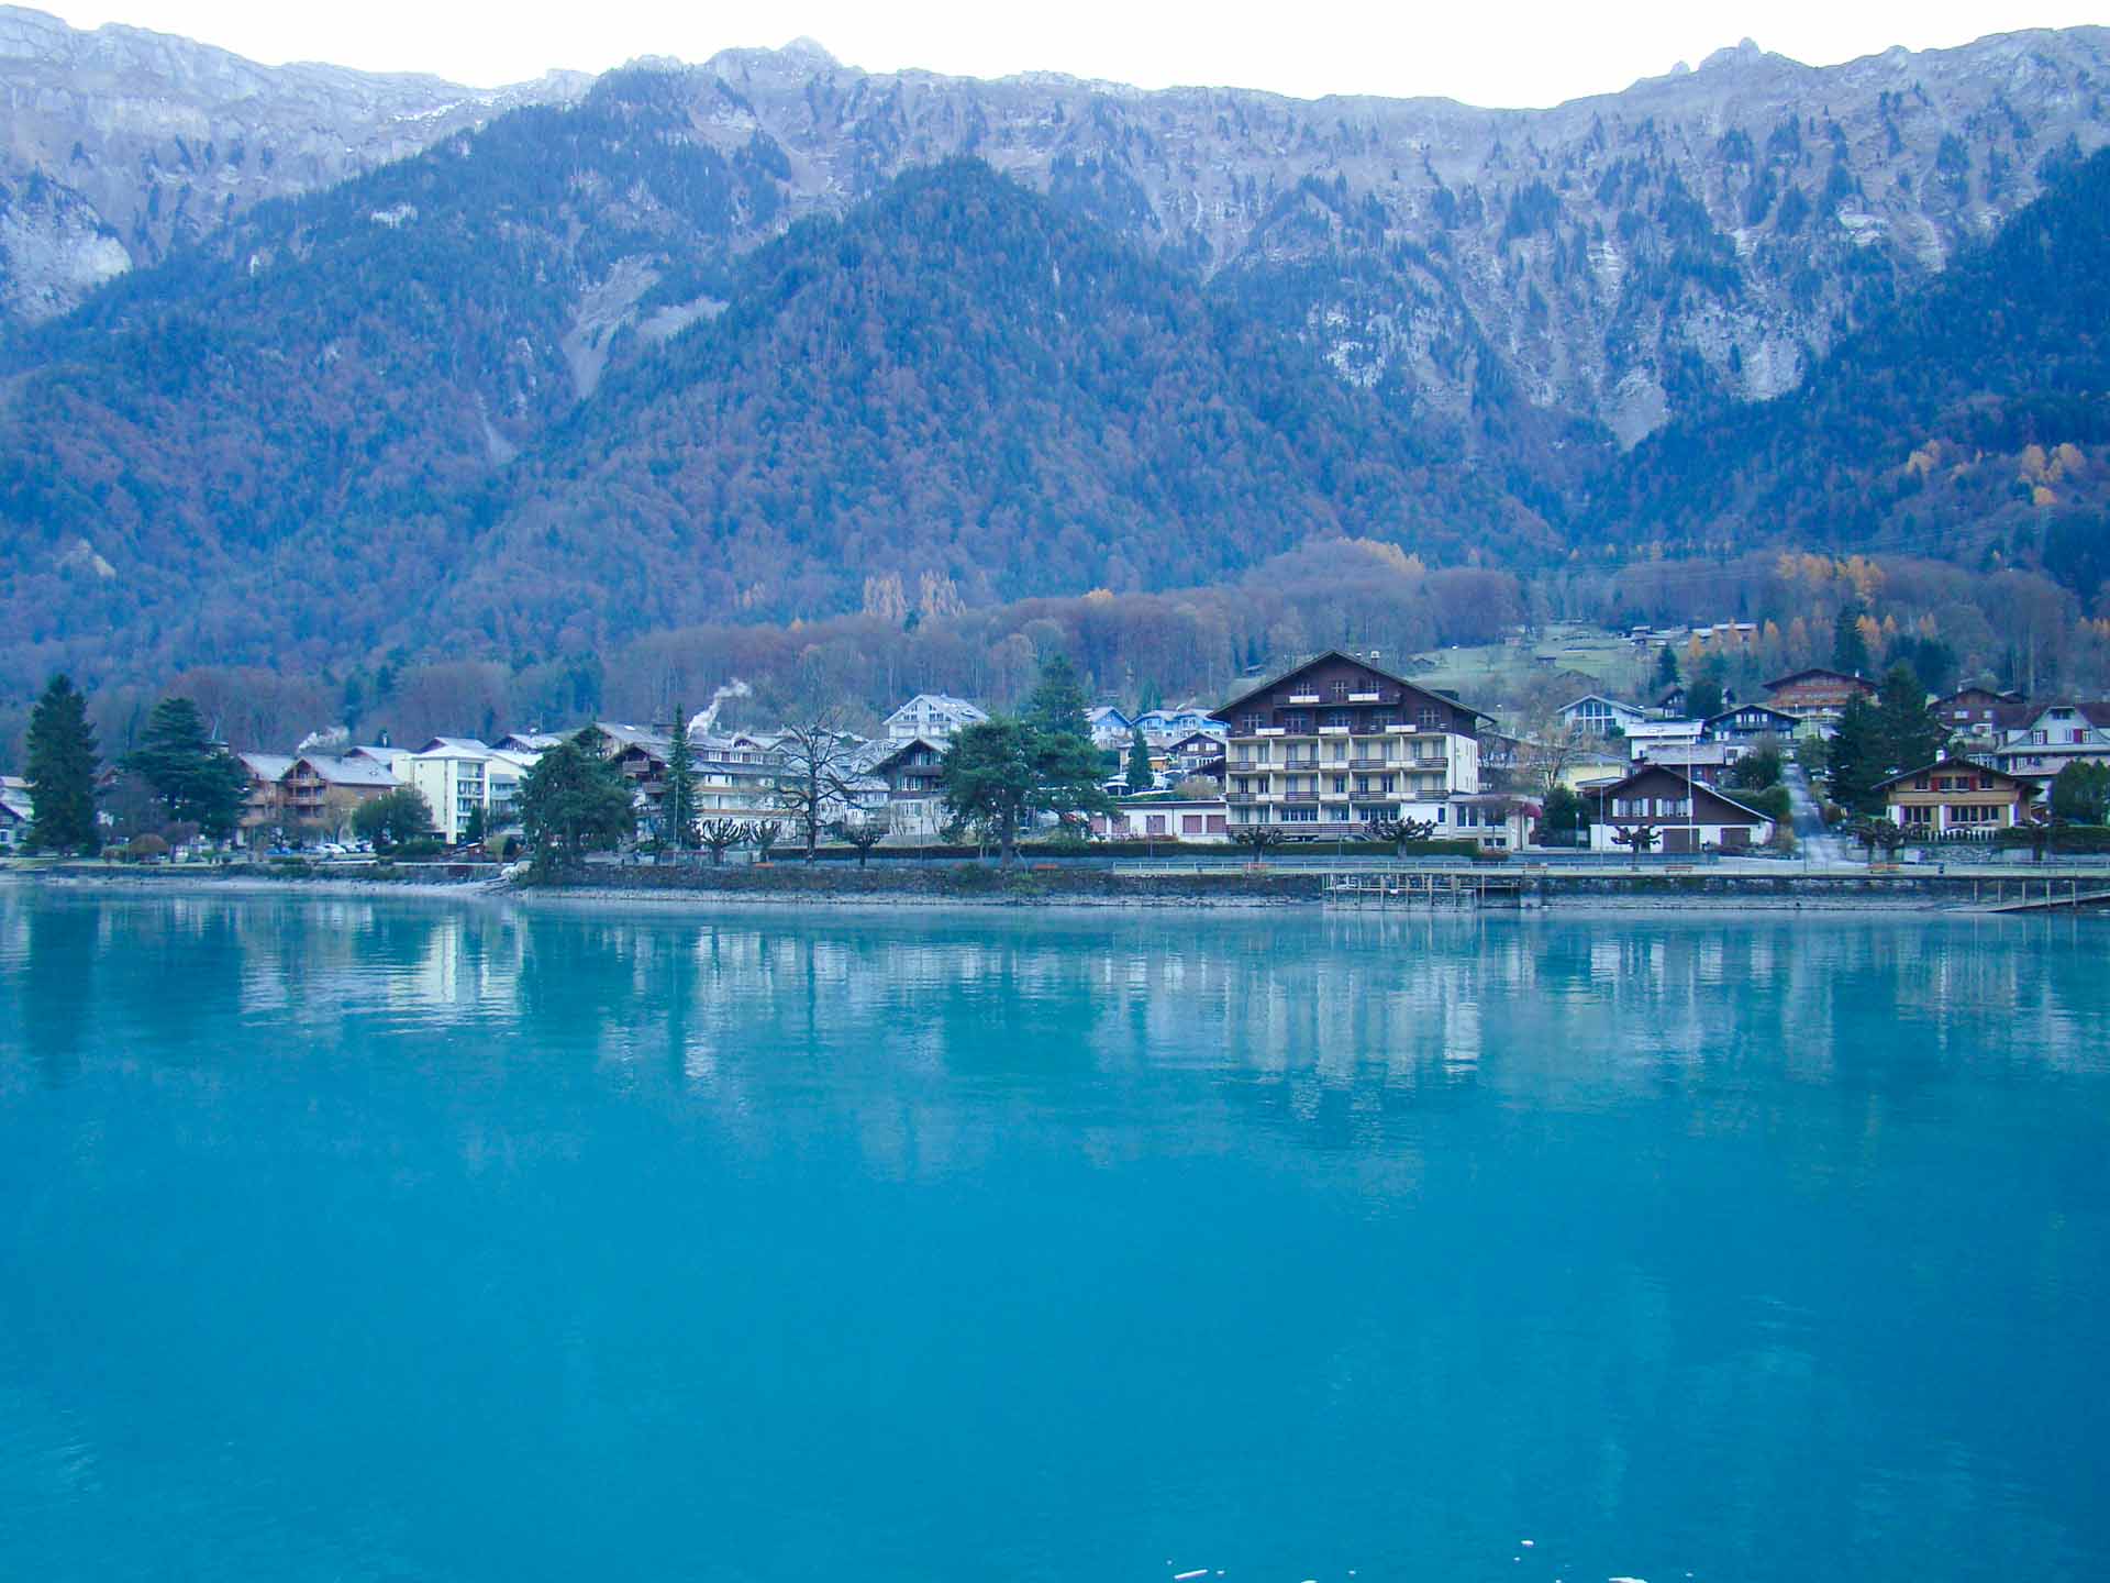
<path id="1" fill-rule="evenodd" d="M 812 618 L 867 578 L 992 604 L 1342 534 L 1433 564 L 1555 542 L 1298 342 L 979 163 L 795 228 L 730 295 L 521 462 L 437 621 L 517 646 Z"/>

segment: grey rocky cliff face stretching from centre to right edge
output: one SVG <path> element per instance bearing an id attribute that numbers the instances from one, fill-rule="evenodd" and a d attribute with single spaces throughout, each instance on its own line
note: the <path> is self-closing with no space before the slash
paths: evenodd
<path id="1" fill-rule="evenodd" d="M 1874 302 L 2110 139 L 2110 32 L 1806 68 L 1756 44 L 1555 110 L 867 76 L 720 55 L 696 131 L 766 133 L 789 213 L 968 152 L 1323 344 L 1471 441 L 1574 414 L 1631 445 L 1794 388 Z"/>

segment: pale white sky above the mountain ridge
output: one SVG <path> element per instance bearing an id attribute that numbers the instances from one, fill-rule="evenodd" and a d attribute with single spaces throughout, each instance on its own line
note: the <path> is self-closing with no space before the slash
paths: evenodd
<path id="1" fill-rule="evenodd" d="M 34 2 L 34 0 L 32 0 Z M 2017 27 L 2110 21 L 2110 0 L 1597 0 L 1595 4 L 1150 4 L 1129 0 L 44 0 L 74 27 L 184 34 L 251 59 L 435 72 L 494 87 L 553 65 L 599 72 L 637 55 L 703 61 L 734 44 L 808 36 L 874 72 L 1070 72 L 1133 82 L 1323 93 L 1437 93 L 1545 106 L 1614 93 L 1751 36 L 1829 65 L 1891 44 L 1939 49 Z"/>

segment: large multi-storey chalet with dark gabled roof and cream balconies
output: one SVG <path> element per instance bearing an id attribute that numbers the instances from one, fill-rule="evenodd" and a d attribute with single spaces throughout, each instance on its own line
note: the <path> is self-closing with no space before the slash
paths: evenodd
<path id="1" fill-rule="evenodd" d="M 1488 716 L 1342 650 L 1247 688 L 1213 718 L 1228 728 L 1234 829 L 1353 832 L 1372 819 L 1437 817 L 1447 798 L 1479 791 L 1477 730 Z"/>

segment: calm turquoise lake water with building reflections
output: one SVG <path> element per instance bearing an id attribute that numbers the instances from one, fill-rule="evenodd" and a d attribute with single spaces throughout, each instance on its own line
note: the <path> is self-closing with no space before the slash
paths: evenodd
<path id="1" fill-rule="evenodd" d="M 2106 943 L 0 884 L 0 1577 L 2110 1577 Z"/>

